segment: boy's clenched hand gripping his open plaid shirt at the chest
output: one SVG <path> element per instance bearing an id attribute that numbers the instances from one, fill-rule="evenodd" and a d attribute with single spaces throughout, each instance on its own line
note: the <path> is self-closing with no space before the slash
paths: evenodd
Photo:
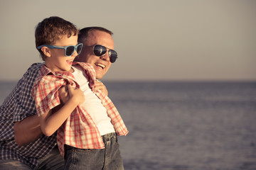
<path id="1" fill-rule="evenodd" d="M 75 103 L 80 104 L 85 101 L 85 95 L 81 89 L 74 89 L 71 84 L 68 84 L 68 94 L 70 96 L 70 100 L 73 100 Z"/>

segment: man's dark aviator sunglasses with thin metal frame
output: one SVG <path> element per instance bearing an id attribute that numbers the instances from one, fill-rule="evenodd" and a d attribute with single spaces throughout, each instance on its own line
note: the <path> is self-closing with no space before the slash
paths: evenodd
<path id="1" fill-rule="evenodd" d="M 101 57 L 101 56 L 105 55 L 107 52 L 107 47 L 105 47 L 103 45 L 95 45 L 95 46 L 84 45 L 84 47 L 92 47 L 93 53 L 97 57 Z M 110 62 L 112 62 L 112 63 L 115 62 L 115 60 L 117 60 L 117 52 L 114 50 L 108 50 L 108 52 L 109 52 L 109 56 L 110 56 Z"/>

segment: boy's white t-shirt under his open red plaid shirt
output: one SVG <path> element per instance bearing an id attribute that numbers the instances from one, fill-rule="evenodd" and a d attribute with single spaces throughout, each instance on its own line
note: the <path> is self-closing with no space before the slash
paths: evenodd
<path id="1" fill-rule="evenodd" d="M 73 76 L 85 95 L 85 102 L 80 106 L 88 111 L 100 131 L 100 135 L 115 132 L 114 126 L 110 122 L 111 119 L 107 116 L 107 109 L 102 105 L 100 98 L 90 89 L 85 72 L 82 72 L 82 68 L 78 65 L 73 66 L 73 69 Z"/>

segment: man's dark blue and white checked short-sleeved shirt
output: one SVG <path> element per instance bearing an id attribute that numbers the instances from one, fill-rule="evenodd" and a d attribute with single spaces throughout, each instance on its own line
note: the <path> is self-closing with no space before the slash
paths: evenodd
<path id="1" fill-rule="evenodd" d="M 56 145 L 56 134 L 50 137 L 42 135 L 23 147 L 19 147 L 14 140 L 14 123 L 36 115 L 31 91 L 41 65 L 32 64 L 0 106 L 0 159 L 18 160 L 31 166 L 31 169 L 35 169 L 38 159 L 45 157 Z"/>

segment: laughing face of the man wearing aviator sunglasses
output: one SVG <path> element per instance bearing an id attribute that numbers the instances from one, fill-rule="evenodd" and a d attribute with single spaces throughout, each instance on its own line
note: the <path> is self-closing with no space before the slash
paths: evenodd
<path id="1" fill-rule="evenodd" d="M 94 67 L 96 71 L 96 78 L 102 79 L 108 69 L 110 69 L 111 65 L 108 52 L 106 52 L 102 57 L 97 57 L 94 55 L 92 47 L 85 46 L 103 45 L 108 49 L 114 50 L 114 40 L 112 36 L 101 30 L 92 30 L 88 33 L 87 41 L 83 42 L 83 44 L 84 47 L 82 48 L 82 52 L 76 60 L 78 62 L 87 62 L 92 64 L 92 67 Z"/>

